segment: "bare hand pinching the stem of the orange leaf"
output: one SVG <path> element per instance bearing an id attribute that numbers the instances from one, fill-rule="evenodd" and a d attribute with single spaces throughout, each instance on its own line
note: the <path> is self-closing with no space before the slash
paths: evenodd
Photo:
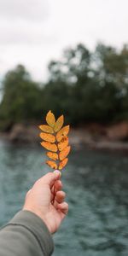
<path id="1" fill-rule="evenodd" d="M 49 232 L 58 230 L 61 221 L 68 212 L 64 201 L 65 192 L 61 191 L 61 172 L 49 172 L 34 183 L 26 194 L 23 210 L 34 212 L 42 218 Z"/>

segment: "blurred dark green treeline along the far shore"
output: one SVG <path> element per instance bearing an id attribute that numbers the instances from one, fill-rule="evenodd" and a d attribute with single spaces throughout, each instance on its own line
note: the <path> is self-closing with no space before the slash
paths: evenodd
<path id="1" fill-rule="evenodd" d="M 78 44 L 48 68 L 45 84 L 34 82 L 21 65 L 5 75 L 0 130 L 41 121 L 49 109 L 64 113 L 72 125 L 128 119 L 128 45 L 118 50 L 98 44 L 90 52 Z"/>

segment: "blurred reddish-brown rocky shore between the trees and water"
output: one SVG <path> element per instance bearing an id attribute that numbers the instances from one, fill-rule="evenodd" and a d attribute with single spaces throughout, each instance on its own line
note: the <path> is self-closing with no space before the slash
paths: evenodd
<path id="1" fill-rule="evenodd" d="M 0 138 L 11 143 L 39 143 L 38 126 L 16 124 L 8 133 L 0 133 Z M 70 143 L 75 148 L 118 150 L 128 152 L 128 122 L 116 125 L 90 124 L 71 129 Z"/>

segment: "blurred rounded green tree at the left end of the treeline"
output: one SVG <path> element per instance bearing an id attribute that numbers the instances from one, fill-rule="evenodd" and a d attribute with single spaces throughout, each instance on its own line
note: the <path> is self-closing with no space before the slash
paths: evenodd
<path id="1" fill-rule="evenodd" d="M 10 129 L 17 122 L 27 123 L 40 116 L 41 90 L 25 67 L 19 65 L 3 80 L 3 101 L 0 106 L 1 126 Z"/>

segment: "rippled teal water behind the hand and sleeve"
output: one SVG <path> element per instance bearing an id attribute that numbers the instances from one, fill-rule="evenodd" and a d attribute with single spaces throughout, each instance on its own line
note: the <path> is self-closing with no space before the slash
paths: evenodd
<path id="1" fill-rule="evenodd" d="M 23 205 L 32 183 L 48 172 L 44 151 L 0 142 L 0 224 Z M 75 151 L 63 172 L 69 213 L 54 235 L 54 256 L 128 254 L 128 158 Z"/>

